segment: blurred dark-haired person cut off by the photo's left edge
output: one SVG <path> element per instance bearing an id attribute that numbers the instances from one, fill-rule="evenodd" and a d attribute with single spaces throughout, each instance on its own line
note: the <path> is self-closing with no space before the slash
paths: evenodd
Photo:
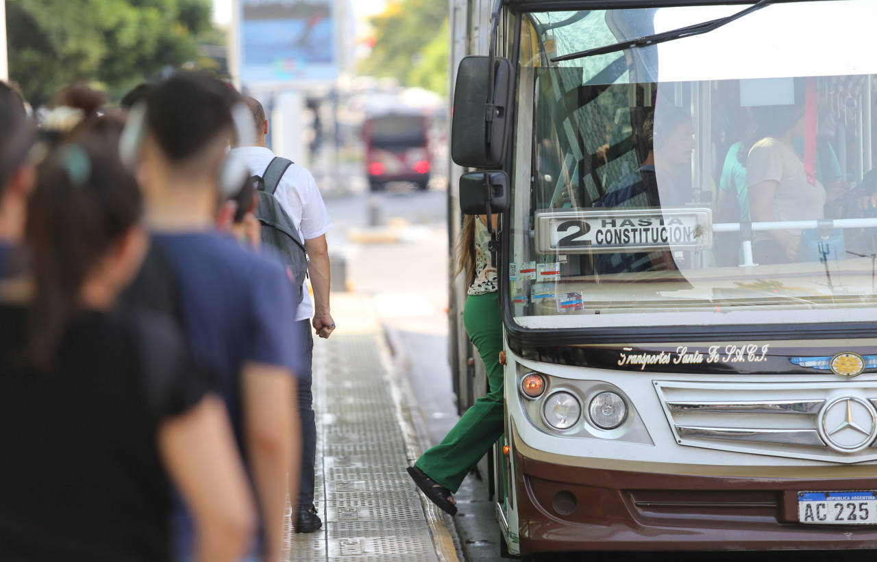
<path id="1" fill-rule="evenodd" d="M 33 139 L 21 96 L 0 82 L 0 278 L 18 269 L 13 260 L 24 237 L 27 196 L 36 175 L 28 159 Z"/>

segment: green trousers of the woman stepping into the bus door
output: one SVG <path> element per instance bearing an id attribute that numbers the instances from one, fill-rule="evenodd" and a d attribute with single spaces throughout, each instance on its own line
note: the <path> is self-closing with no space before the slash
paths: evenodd
<path id="1" fill-rule="evenodd" d="M 414 466 L 452 492 L 503 435 L 503 323 L 496 293 L 470 295 L 463 309 L 469 339 L 487 367 L 490 392 L 481 396 L 439 445 L 424 452 Z"/>

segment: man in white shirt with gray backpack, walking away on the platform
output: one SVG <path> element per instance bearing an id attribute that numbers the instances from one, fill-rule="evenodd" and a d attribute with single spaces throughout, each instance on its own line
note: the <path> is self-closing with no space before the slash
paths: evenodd
<path id="1" fill-rule="evenodd" d="M 296 311 L 297 348 L 302 353 L 298 374 L 298 412 L 302 426 L 302 470 L 297 503 L 293 506 L 293 524 L 298 533 L 310 533 L 323 526 L 314 507 L 314 463 L 317 455 L 317 427 L 312 408 L 311 352 L 313 336 L 309 320 L 320 338 L 328 338 L 335 330 L 329 311 L 330 264 L 325 233 L 332 220 L 317 189 L 317 182 L 304 167 L 278 158 L 265 146 L 268 122 L 261 103 L 252 97 L 244 102 L 253 113 L 256 140 L 252 146 L 232 150 L 246 162 L 253 181 L 257 182 L 262 245 L 280 254 L 287 265 L 290 279 L 299 288 L 301 302 Z M 304 277 L 310 277 L 313 288 L 311 302 Z M 296 502 L 295 490 L 289 490 Z"/>

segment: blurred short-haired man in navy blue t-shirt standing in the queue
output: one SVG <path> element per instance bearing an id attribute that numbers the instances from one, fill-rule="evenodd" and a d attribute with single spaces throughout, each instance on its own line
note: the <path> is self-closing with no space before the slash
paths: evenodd
<path id="1" fill-rule="evenodd" d="M 217 375 L 260 507 L 261 559 L 281 556 L 287 471 L 300 449 L 293 286 L 274 260 L 221 236 L 214 219 L 240 177 L 226 158 L 239 108 L 225 83 L 178 73 L 135 106 L 120 150 L 136 167 L 153 244 L 168 260 L 182 326 L 196 359 Z M 246 113 L 245 113 L 246 115 Z M 181 559 L 190 532 L 178 518 Z"/>

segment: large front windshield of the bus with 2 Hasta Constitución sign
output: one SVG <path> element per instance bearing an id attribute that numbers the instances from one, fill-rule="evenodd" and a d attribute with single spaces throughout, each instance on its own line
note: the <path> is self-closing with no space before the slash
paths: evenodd
<path id="1" fill-rule="evenodd" d="M 703 35 L 560 62 L 740 6 L 526 14 L 517 324 L 873 321 L 875 4 L 772 4 Z"/>

